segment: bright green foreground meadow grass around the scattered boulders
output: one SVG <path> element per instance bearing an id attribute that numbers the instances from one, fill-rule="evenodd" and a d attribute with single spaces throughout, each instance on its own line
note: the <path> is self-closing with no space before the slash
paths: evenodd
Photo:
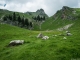
<path id="1" fill-rule="evenodd" d="M 71 28 L 72 31 L 73 28 Z M 79 29 L 79 28 L 78 28 Z M 74 32 L 75 31 L 75 32 Z M 26 29 L 0 24 L 0 60 L 71 60 L 80 58 L 79 32 L 63 39 L 59 36 L 65 31 L 29 31 Z M 36 38 L 42 32 L 48 40 Z M 53 37 L 52 35 L 58 35 Z M 25 44 L 6 47 L 11 40 L 25 40 Z"/>

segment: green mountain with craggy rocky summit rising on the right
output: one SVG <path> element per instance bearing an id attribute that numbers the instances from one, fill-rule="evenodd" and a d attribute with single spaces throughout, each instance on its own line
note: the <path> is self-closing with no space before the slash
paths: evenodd
<path id="1" fill-rule="evenodd" d="M 80 20 L 80 8 L 63 6 L 42 24 L 42 30 L 54 30 Z M 77 24 L 77 23 L 75 23 Z"/>

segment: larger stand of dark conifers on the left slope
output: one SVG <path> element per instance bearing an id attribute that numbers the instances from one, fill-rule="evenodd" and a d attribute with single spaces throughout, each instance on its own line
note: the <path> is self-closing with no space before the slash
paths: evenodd
<path id="1" fill-rule="evenodd" d="M 12 13 L 12 15 L 5 15 L 3 17 L 3 21 L 9 21 L 13 22 L 15 24 L 12 25 L 18 25 L 20 27 L 25 27 L 25 28 L 32 28 L 32 22 L 29 22 L 29 19 L 21 17 L 19 14 L 16 14 L 15 12 Z"/>

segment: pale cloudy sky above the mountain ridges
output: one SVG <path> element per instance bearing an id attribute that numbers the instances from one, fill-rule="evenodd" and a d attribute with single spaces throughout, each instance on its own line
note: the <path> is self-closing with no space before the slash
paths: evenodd
<path id="1" fill-rule="evenodd" d="M 0 9 L 35 12 L 42 8 L 48 16 L 54 15 L 63 6 L 79 8 L 80 0 L 0 0 Z"/>

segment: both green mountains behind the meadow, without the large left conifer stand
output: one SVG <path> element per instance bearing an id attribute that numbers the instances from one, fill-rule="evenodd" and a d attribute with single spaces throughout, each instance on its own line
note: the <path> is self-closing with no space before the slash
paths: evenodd
<path id="1" fill-rule="evenodd" d="M 12 14 L 12 11 L 0 9 L 0 22 L 4 16 Z M 63 6 L 62 9 L 58 10 L 51 17 L 48 17 L 43 9 L 38 9 L 36 12 L 15 12 L 15 14 L 17 17 L 20 15 L 21 18 L 24 18 L 24 21 L 28 19 L 33 26 L 33 30 L 62 29 L 62 27 L 68 26 L 68 24 L 73 25 L 76 21 L 80 20 L 80 8 L 70 8 L 67 6 Z M 18 22 L 15 23 L 13 24 L 18 25 Z"/>

